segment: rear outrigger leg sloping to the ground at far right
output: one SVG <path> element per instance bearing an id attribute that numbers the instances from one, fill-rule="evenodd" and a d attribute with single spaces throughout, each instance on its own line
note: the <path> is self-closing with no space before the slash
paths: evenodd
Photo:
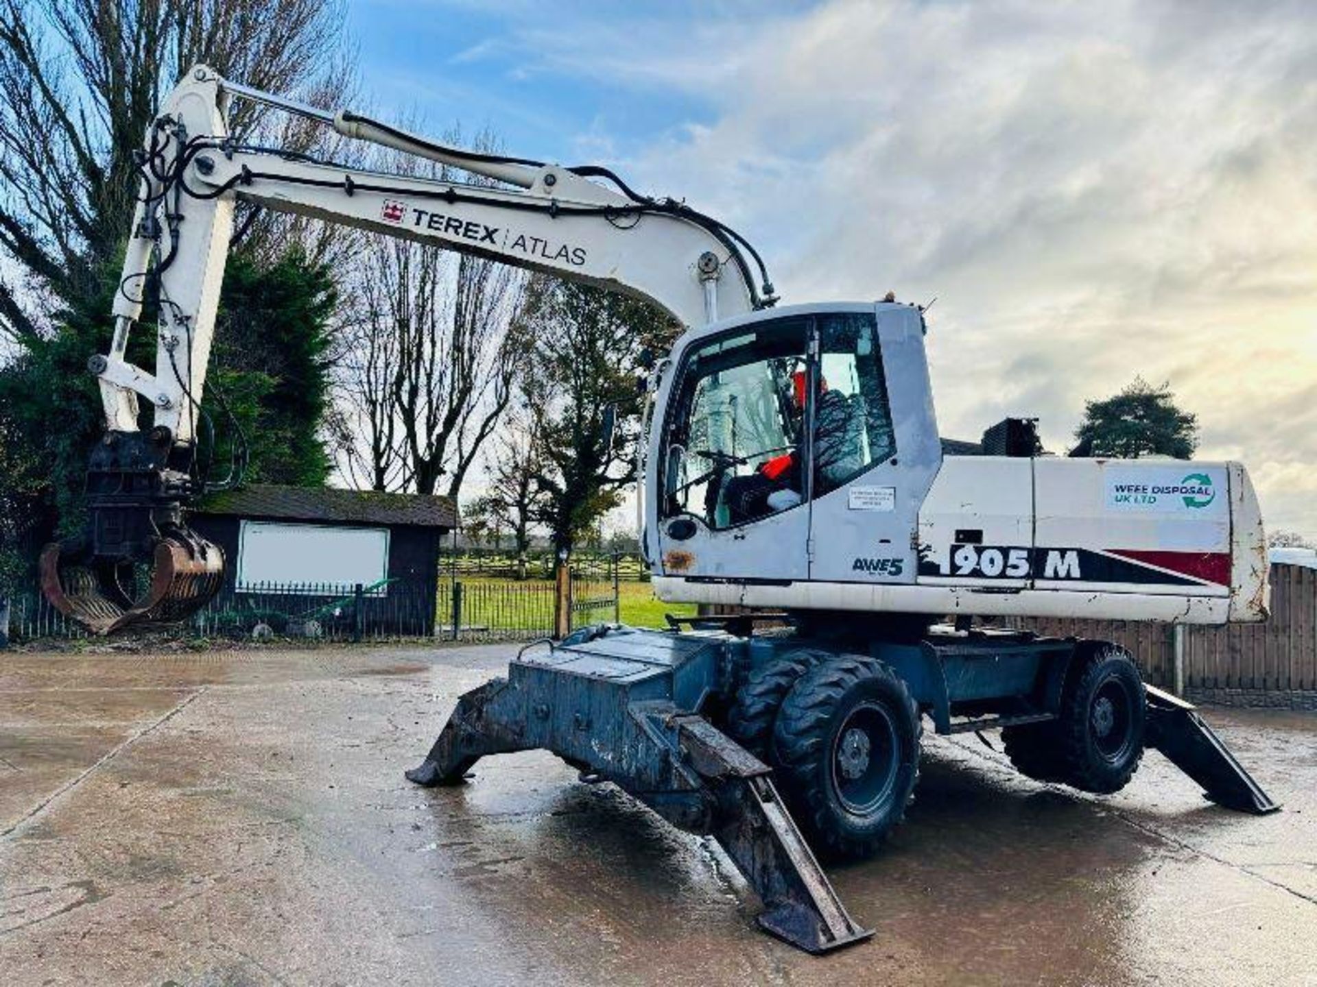
<path id="1" fill-rule="evenodd" d="M 1147 746 L 1166 754 L 1218 805 L 1255 816 L 1280 808 L 1204 722 L 1192 703 L 1152 686 L 1144 684 L 1144 688 L 1148 696 Z"/>

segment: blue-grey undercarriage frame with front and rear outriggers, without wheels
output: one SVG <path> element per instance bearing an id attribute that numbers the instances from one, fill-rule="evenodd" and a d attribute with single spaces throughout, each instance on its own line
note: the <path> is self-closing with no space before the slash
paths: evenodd
<path id="1" fill-rule="evenodd" d="M 939 734 L 951 734 L 1056 721 L 1072 670 L 1094 645 L 1114 647 L 1019 630 L 930 628 L 918 617 L 867 624 L 818 612 L 766 615 L 778 626 L 756 632 L 764 616 L 698 617 L 680 621 L 689 629 L 666 632 L 599 625 L 557 644 L 528 645 L 506 679 L 458 699 L 425 761 L 407 776 L 423 786 L 457 784 L 482 757 L 549 750 L 583 782 L 612 782 L 673 825 L 712 836 L 764 901 L 760 924 L 822 953 L 872 930 L 847 913 L 793 820 L 789 807 L 799 804 L 799 794 L 778 794 L 777 783 L 789 784 L 790 776 L 727 733 L 738 691 L 755 670 L 802 649 L 819 661 L 844 661 L 863 647 L 864 661 L 877 659 L 900 678 L 915 716 L 927 715 Z M 1192 705 L 1143 688 L 1146 734 L 1135 763 L 1146 744 L 1225 807 L 1279 808 Z"/>

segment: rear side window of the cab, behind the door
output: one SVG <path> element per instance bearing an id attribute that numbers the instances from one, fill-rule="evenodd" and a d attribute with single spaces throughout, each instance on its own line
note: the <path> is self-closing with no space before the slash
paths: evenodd
<path id="1" fill-rule="evenodd" d="M 818 334 L 814 496 L 849 483 L 897 451 L 873 316 L 822 316 Z"/>

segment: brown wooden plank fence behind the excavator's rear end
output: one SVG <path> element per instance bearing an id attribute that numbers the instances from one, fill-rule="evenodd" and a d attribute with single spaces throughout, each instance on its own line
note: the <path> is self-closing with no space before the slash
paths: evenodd
<path id="1" fill-rule="evenodd" d="M 1054 619 L 1025 624 L 1044 634 L 1114 641 L 1135 655 L 1148 682 L 1173 684 L 1176 630 L 1167 624 Z M 1179 633 L 1191 694 L 1227 699 L 1235 692 L 1317 691 L 1317 570 L 1272 566 L 1271 617 L 1263 624 L 1183 626 Z"/>

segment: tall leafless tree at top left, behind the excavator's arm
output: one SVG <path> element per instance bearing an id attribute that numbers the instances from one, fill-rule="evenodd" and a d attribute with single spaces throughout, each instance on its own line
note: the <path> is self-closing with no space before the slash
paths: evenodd
<path id="1" fill-rule="evenodd" d="M 18 270 L 0 278 L 0 336 L 32 343 L 50 309 L 96 296 L 128 237 L 133 154 L 182 72 L 333 99 L 352 78 L 341 28 L 325 0 L 0 0 L 0 250 Z M 246 137 L 262 113 L 236 104 L 230 122 Z"/>

